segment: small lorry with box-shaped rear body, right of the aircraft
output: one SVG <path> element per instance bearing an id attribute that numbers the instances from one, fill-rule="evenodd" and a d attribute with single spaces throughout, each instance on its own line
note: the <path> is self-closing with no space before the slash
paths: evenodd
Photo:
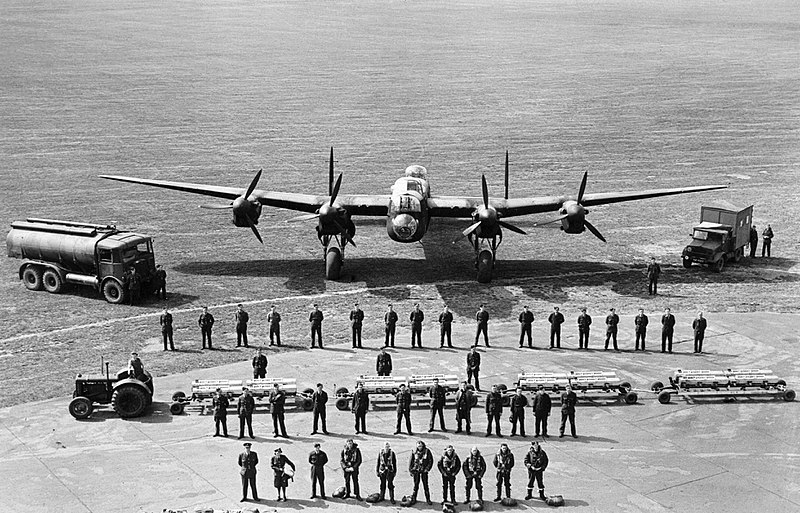
<path id="1" fill-rule="evenodd" d="M 738 262 L 750 242 L 753 206 L 741 210 L 701 207 L 700 224 L 692 230 L 692 242 L 683 250 L 683 266 L 704 264 L 720 272 L 726 262 Z"/>

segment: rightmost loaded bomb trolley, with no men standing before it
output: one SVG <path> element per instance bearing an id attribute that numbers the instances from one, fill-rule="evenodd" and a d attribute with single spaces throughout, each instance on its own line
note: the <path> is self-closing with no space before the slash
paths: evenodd
<path id="1" fill-rule="evenodd" d="M 667 404 L 673 395 L 687 399 L 696 397 L 736 400 L 737 397 L 773 397 L 793 401 L 794 390 L 786 381 L 766 369 L 681 370 L 669 377 L 669 385 L 654 382 L 650 390 L 658 394 L 658 402 Z"/>

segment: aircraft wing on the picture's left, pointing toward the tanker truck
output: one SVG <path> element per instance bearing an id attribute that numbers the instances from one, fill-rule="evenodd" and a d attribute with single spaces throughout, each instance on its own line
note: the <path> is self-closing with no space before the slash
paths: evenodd
<path id="1" fill-rule="evenodd" d="M 129 182 L 139 185 L 149 185 L 161 189 L 188 192 L 202 196 L 235 200 L 247 192 L 246 189 L 239 187 L 222 187 L 217 185 L 205 185 L 188 182 L 171 182 L 167 180 L 151 180 L 148 178 L 132 178 L 129 176 L 100 175 L 100 178 L 116 180 L 119 182 Z M 257 199 L 262 205 L 270 207 L 285 208 L 299 212 L 316 212 L 323 203 L 326 203 L 330 196 L 315 194 L 300 194 L 293 192 L 274 192 L 256 189 L 250 195 Z M 340 194 L 336 198 L 336 203 L 346 208 L 351 215 L 362 216 L 385 216 L 389 210 L 389 196 L 387 195 L 368 195 L 368 194 Z"/>

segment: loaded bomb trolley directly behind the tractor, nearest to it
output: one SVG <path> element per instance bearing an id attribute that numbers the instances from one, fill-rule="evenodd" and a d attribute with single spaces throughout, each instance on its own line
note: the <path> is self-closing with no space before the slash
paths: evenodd
<path id="1" fill-rule="evenodd" d="M 273 386 L 278 384 L 286 393 L 286 406 L 291 408 L 302 408 L 310 411 L 313 409 L 311 394 L 314 389 L 306 388 L 298 392 L 297 380 L 294 378 L 262 378 L 262 379 L 196 379 L 192 381 L 192 395 L 187 396 L 184 392 L 178 391 L 172 394 L 172 404 L 169 411 L 173 415 L 180 415 L 187 406 L 197 406 L 202 415 L 206 408 L 211 408 L 212 399 L 217 391 L 221 390 L 228 397 L 231 407 L 235 407 L 234 400 L 243 394 L 243 388 L 250 390 L 250 395 L 255 399 L 256 406 L 269 406 L 269 394 Z"/>

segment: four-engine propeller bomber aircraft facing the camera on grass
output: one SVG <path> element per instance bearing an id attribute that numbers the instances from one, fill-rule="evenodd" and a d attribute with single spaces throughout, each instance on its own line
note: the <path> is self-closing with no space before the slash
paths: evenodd
<path id="1" fill-rule="evenodd" d="M 584 173 L 577 196 L 509 199 L 508 152 L 506 152 L 505 197 L 503 199 L 489 197 L 485 176 L 481 177 L 483 196 L 480 198 L 435 196 L 431 194 L 426 169 L 418 165 L 406 168 L 405 176 L 398 178 L 394 182 L 391 194 L 388 196 L 371 194 L 340 195 L 339 188 L 342 184 L 342 175 L 339 175 L 335 184 L 333 182 L 333 148 L 331 148 L 330 153 L 328 196 L 256 190 L 261 171 L 256 174 L 246 190 L 235 187 L 149 180 L 126 176 L 100 176 L 109 180 L 150 185 L 230 200 L 230 204 L 204 205 L 203 207 L 232 209 L 233 224 L 252 229 L 256 238 L 262 244 L 263 240 L 258 233 L 256 224 L 258 224 L 263 205 L 307 212 L 307 214 L 290 221 L 317 221 L 317 237 L 322 243 L 325 258 L 325 276 L 330 280 L 339 278 L 347 244 L 356 245 L 353 241 L 356 233 L 356 226 L 352 220 L 353 216 L 385 216 L 386 231 L 389 238 L 397 242 L 417 242 L 421 240 L 428 229 L 431 219 L 434 217 L 471 218 L 472 224 L 463 231 L 463 235 L 469 239 L 475 250 L 475 267 L 478 272 L 478 281 L 482 283 L 487 283 L 492 279 L 497 247 L 503 239 L 503 228 L 525 235 L 523 230 L 504 221 L 503 219 L 505 218 L 557 211 L 558 217 L 538 224 L 560 221 L 561 229 L 566 233 L 582 233 L 588 229 L 595 237 L 605 242 L 605 238 L 597 228 L 586 220 L 586 214 L 589 213 L 586 207 L 673 194 L 710 191 L 727 187 L 725 185 L 702 185 L 675 189 L 585 194 L 588 173 Z M 330 247 L 334 241 L 336 245 Z"/>

